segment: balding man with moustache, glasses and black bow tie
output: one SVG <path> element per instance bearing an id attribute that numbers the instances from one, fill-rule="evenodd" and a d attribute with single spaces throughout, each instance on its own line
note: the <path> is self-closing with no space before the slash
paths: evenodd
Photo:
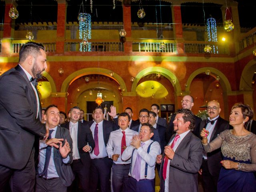
<path id="1" fill-rule="evenodd" d="M 230 129 L 229 122 L 220 117 L 220 104 L 216 101 L 210 101 L 207 104 L 208 119 L 203 120 L 200 124 L 200 131 L 203 128 L 209 131 L 207 136 L 208 142 L 214 140 L 220 132 Z M 197 135 L 199 138 L 200 135 Z M 203 154 L 202 166 L 199 174 L 202 174 L 203 187 L 206 192 L 216 192 L 217 182 L 220 174 L 220 164 L 222 161 L 222 154 L 220 148 L 210 153 Z"/>

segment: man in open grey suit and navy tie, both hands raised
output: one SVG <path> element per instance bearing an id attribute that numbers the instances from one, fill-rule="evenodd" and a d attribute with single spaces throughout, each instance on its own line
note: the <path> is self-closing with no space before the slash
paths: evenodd
<path id="1" fill-rule="evenodd" d="M 72 139 L 66 128 L 58 126 L 60 111 L 54 105 L 45 110 L 44 120 L 50 130 L 48 140 L 40 141 L 36 192 L 63 192 L 72 184 Z"/>

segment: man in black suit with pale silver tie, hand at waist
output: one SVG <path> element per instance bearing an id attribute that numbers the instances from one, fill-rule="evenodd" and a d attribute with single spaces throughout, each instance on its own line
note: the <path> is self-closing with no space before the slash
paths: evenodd
<path id="1" fill-rule="evenodd" d="M 72 107 L 68 116 L 70 122 L 61 125 L 69 129 L 70 136 L 73 140 L 73 162 L 71 168 L 75 175 L 75 180 L 68 188 L 68 191 L 76 192 L 80 185 L 82 191 L 86 192 L 90 190 L 89 176 L 91 160 L 89 153 L 92 152 L 95 144 L 89 126 L 79 121 L 80 108 L 77 106 Z"/>

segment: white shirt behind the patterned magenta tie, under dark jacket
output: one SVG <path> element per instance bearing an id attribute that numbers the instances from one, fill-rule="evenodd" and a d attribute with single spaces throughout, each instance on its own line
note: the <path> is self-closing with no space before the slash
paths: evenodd
<path id="1" fill-rule="evenodd" d="M 96 126 L 96 122 L 93 122 L 92 126 L 90 127 L 90 129 L 92 131 L 93 139 L 94 139 L 95 126 Z M 94 150 L 93 150 L 92 153 L 90 153 L 91 159 L 104 158 L 104 157 L 108 156 L 108 154 L 106 152 L 106 146 L 104 143 L 104 137 L 103 137 L 103 120 L 98 123 L 98 142 L 99 142 L 100 154 L 98 154 L 98 156 L 96 156 L 94 154 Z"/>

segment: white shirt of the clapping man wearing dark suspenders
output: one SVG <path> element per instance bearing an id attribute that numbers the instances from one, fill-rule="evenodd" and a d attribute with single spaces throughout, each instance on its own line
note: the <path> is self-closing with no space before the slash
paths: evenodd
<path id="1" fill-rule="evenodd" d="M 155 178 L 155 165 L 156 165 L 156 156 L 161 154 L 161 148 L 160 144 L 158 142 L 154 142 L 150 146 L 150 151 L 147 153 L 148 146 L 153 142 L 153 140 L 148 140 L 145 143 L 145 145 L 138 149 L 134 148 L 133 146 L 128 146 L 123 154 L 122 154 L 122 160 L 128 160 L 132 156 L 132 151 L 134 150 L 133 156 L 132 156 L 132 169 L 131 173 L 129 173 L 129 176 L 132 176 L 132 178 L 135 178 L 133 175 L 133 168 L 134 164 L 136 162 L 137 155 L 139 154 L 141 159 L 140 162 L 140 179 L 145 179 L 145 166 L 146 162 L 148 164 L 148 173 L 147 173 L 147 179 L 154 179 Z"/>

